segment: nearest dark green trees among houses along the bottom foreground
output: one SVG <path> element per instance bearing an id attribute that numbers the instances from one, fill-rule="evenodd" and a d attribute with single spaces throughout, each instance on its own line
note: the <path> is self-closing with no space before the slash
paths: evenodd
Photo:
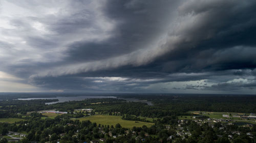
<path id="1" fill-rule="evenodd" d="M 37 142 L 52 142 L 60 143 L 65 142 L 83 142 L 90 140 L 96 140 L 104 138 L 105 142 L 175 142 L 177 143 L 230 143 L 228 134 L 233 131 L 241 132 L 240 135 L 233 136 L 234 143 L 243 142 L 255 142 L 255 138 L 249 137 L 246 133 L 251 132 L 256 135 L 256 126 L 239 127 L 237 125 L 225 125 L 221 123 L 215 123 L 212 127 L 208 123 L 198 125 L 196 122 L 187 120 L 183 122 L 183 132 L 191 132 L 191 135 L 185 135 L 181 137 L 177 135 L 175 117 L 165 117 L 165 119 L 158 119 L 155 125 L 151 127 L 133 127 L 127 129 L 121 127 L 120 124 L 115 126 L 109 125 L 97 125 L 90 121 L 70 120 L 69 118 L 63 119 L 61 116 L 57 116 L 54 119 L 41 119 L 40 113 L 32 113 L 30 119 L 27 121 L 20 121 L 15 124 L 0 123 L 0 133 L 6 135 L 8 131 L 13 132 L 26 132 L 28 135 L 19 142 L 27 143 L 31 141 Z M 168 121 L 169 129 L 166 129 L 165 123 Z M 174 122 L 175 124 L 172 124 Z M 223 127 L 223 130 L 219 130 Z M 152 136 L 154 135 L 154 136 Z M 116 136 L 113 138 L 113 136 Z M 170 139 L 169 137 L 173 138 Z M 4 140 L 1 140 L 6 141 Z"/>

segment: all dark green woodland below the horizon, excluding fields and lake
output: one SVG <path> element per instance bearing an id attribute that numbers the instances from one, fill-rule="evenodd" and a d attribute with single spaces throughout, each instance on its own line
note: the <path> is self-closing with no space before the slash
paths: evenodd
<path id="1" fill-rule="evenodd" d="M 126 96 L 129 97 L 129 96 Z M 131 97 L 129 97 L 131 98 Z M 1 101 L 0 118 L 23 118 L 14 124 L 0 123 L 0 133 L 6 135 L 8 131 L 25 132 L 28 135 L 19 142 L 90 142 L 91 140 L 104 138 L 105 142 L 256 142 L 256 126 L 241 127 L 234 124 L 207 122 L 198 124 L 191 120 L 178 120 L 179 115 L 189 115 L 189 110 L 205 111 L 233 111 L 256 112 L 255 96 L 140 96 L 140 99 L 154 103 L 148 106 L 146 103 L 126 102 L 123 99 L 87 99 L 83 101 L 63 102 L 46 105 L 46 100 L 30 101 Z M 151 127 L 133 127 L 127 129 L 116 126 L 97 125 L 90 121 L 76 120 L 83 116 L 83 108 L 92 108 L 91 115 L 95 112 L 106 115 L 120 115 L 124 120 L 146 121 L 141 117 L 154 118 L 155 125 Z M 56 109 L 67 111 L 54 119 L 45 118 L 39 110 Z M 34 111 L 34 112 L 30 112 Z M 27 112 L 30 115 L 22 117 Z M 200 118 L 208 118 L 201 116 Z M 146 121 L 147 122 L 147 121 Z M 181 123 L 182 122 L 182 123 Z M 213 123 L 213 122 L 212 122 Z M 167 125 L 167 126 L 166 126 Z M 168 128 L 167 128 L 168 127 Z M 233 133 L 239 132 L 240 135 Z M 187 135 L 185 133 L 191 133 Z M 178 135 L 178 133 L 185 135 Z M 250 134 L 248 134 L 250 133 Z M 229 135 L 232 134 L 232 139 Z M 114 137 L 115 136 L 115 137 Z M 174 137 L 174 138 L 172 138 Z M 6 142 L 6 139 L 0 140 Z"/>

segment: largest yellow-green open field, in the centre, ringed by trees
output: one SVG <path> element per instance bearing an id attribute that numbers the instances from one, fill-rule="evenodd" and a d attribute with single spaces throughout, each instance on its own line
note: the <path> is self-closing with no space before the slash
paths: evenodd
<path id="1" fill-rule="evenodd" d="M 95 122 L 101 125 L 115 126 L 117 123 L 119 123 L 122 127 L 125 127 L 125 128 L 133 128 L 134 126 L 142 127 L 143 125 L 150 127 L 154 125 L 153 123 L 146 123 L 146 122 L 140 122 L 140 121 L 136 121 L 138 123 L 135 123 L 135 121 L 122 120 L 121 118 L 122 118 L 121 116 L 93 115 L 93 116 L 88 116 L 88 117 L 83 117 L 78 119 L 80 121 L 90 120 L 93 123 Z"/>

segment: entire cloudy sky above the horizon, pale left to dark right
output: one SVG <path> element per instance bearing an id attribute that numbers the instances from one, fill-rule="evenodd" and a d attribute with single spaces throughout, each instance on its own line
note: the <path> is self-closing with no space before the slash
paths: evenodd
<path id="1" fill-rule="evenodd" d="M 0 0 L 0 92 L 256 93 L 255 0 Z"/>

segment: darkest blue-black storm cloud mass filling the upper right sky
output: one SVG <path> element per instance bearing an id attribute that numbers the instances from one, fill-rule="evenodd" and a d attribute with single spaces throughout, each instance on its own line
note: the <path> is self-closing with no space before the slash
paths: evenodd
<path id="1" fill-rule="evenodd" d="M 161 57 L 170 71 L 255 68 L 256 11 L 253 1 L 190 1 L 180 14 L 194 17 L 177 33 L 182 43 Z M 172 34 L 172 33 L 171 33 Z M 168 66 L 168 63 L 167 63 Z"/>

